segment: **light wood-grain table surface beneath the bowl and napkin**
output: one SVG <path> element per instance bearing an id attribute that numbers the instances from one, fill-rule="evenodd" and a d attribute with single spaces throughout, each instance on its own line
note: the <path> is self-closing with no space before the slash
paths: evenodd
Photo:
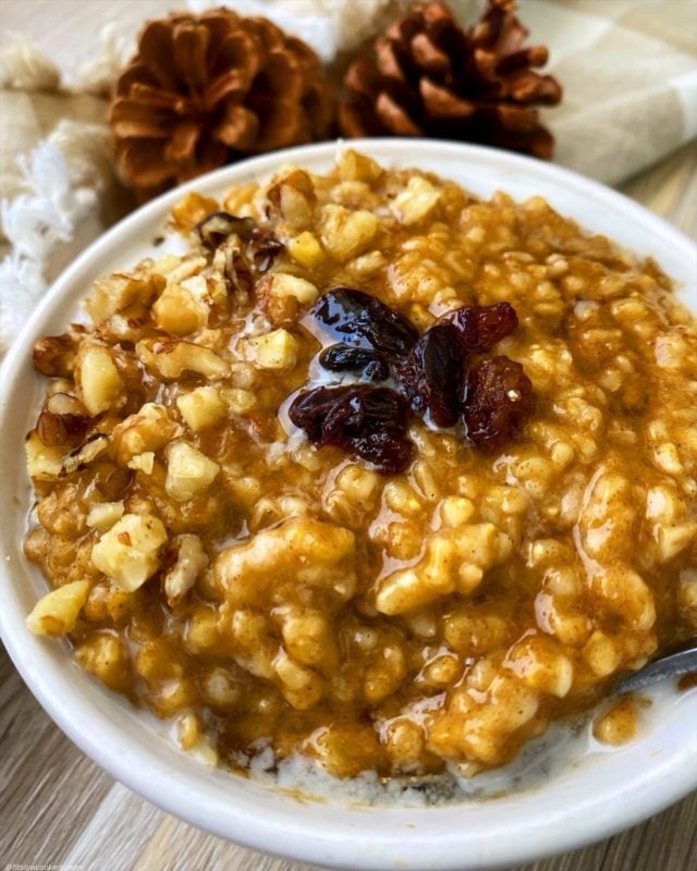
<path id="1" fill-rule="evenodd" d="M 0 0 L 0 26 L 57 61 L 87 57 L 99 26 L 142 21 L 166 0 Z M 182 3 L 183 5 L 183 3 Z M 86 49 L 87 47 L 87 49 Z M 685 147 L 622 189 L 697 236 L 697 151 Z M 44 713 L 0 648 L 0 867 L 65 871 L 302 871 L 205 834 L 113 781 Z M 585 849 L 515 871 L 694 871 L 697 793 Z"/>

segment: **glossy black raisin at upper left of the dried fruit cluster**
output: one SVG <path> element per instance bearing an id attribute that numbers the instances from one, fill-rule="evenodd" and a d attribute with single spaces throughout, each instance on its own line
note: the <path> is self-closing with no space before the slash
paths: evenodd
<path id="1" fill-rule="evenodd" d="M 390 361 L 408 354 L 418 339 L 418 330 L 407 318 L 352 287 L 328 291 L 311 314 L 346 344 L 374 347 Z"/>

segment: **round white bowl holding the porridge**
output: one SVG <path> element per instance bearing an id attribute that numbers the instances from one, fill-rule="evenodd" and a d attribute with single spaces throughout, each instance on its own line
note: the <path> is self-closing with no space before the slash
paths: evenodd
<path id="1" fill-rule="evenodd" d="M 558 167 L 456 144 L 371 139 L 351 144 L 381 162 L 433 170 L 476 194 L 502 188 L 545 196 L 563 214 L 655 257 L 697 310 L 695 247 L 635 203 Z M 435 808 L 367 808 L 297 800 L 273 787 L 211 770 L 182 752 L 166 727 L 90 679 L 66 643 L 33 636 L 25 616 L 46 591 L 22 551 L 30 490 L 22 443 L 39 402 L 30 348 L 60 332 L 100 273 L 152 253 L 185 191 L 220 194 L 283 163 L 330 167 L 337 144 L 248 160 L 173 191 L 113 228 L 56 282 L 2 366 L 0 378 L 1 631 L 32 692 L 88 756 L 135 792 L 195 825 L 248 847 L 346 869 L 490 869 L 527 862 L 606 837 L 697 787 L 697 691 L 664 692 L 641 737 L 568 760 L 548 782 L 496 799 Z M 7 749 L 7 748 L 5 748 Z"/>

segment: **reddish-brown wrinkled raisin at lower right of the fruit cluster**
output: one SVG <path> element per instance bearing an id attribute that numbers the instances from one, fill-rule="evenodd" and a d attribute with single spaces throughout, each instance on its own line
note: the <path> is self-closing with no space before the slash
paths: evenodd
<path id="1" fill-rule="evenodd" d="M 509 357 L 484 357 L 469 370 L 464 402 L 467 438 L 494 450 L 516 436 L 535 407 L 530 379 Z"/>

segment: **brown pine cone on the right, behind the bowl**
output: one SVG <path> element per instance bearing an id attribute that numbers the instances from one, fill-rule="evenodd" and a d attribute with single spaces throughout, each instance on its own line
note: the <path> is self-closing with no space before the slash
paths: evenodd
<path id="1" fill-rule="evenodd" d="M 375 60 L 355 61 L 344 78 L 344 136 L 436 136 L 549 158 L 554 140 L 537 105 L 558 103 L 559 83 L 531 68 L 542 46 L 524 48 L 515 0 L 489 0 L 463 30 L 442 3 L 415 5 L 375 44 Z"/>

